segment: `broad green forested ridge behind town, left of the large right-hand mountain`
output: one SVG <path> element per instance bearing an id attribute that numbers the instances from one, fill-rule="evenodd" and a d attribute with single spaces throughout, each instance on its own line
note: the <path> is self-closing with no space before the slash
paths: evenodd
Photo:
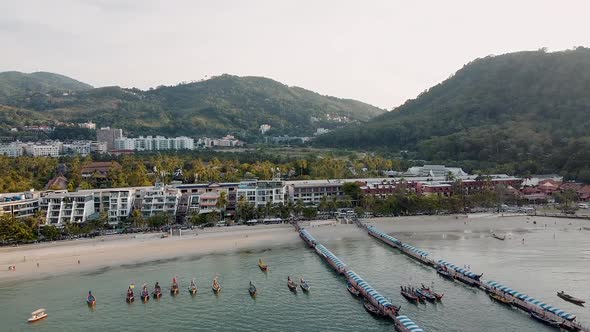
<path id="1" fill-rule="evenodd" d="M 64 90 L 60 87 L 53 91 Z M 0 104 L 5 106 L 0 105 L 0 118 L 8 117 L 5 112 L 36 114 L 12 122 L 92 120 L 99 126 L 123 128 L 130 135 L 233 133 L 247 137 L 256 135 L 262 124 L 272 126 L 271 135 L 310 135 L 319 127 L 366 121 L 385 111 L 268 78 L 231 75 L 147 91 L 104 87 L 64 94 L 46 89 Z"/>

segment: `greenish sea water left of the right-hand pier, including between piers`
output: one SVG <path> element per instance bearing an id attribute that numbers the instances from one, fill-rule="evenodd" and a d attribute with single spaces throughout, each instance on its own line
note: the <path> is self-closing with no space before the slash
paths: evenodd
<path id="1" fill-rule="evenodd" d="M 517 309 L 492 302 L 481 291 L 439 278 L 431 268 L 368 236 L 319 240 L 380 293 L 401 305 L 401 312 L 425 331 L 555 331 Z M 433 239 L 413 244 L 431 250 L 449 245 Z M 469 254 L 459 252 L 460 247 L 455 248 L 455 254 L 467 259 Z M 470 246 L 467 248 L 471 250 Z M 489 248 L 481 250 L 487 252 Z M 259 257 L 269 264 L 269 272 L 260 271 L 256 265 Z M 452 261 L 452 257 L 447 258 Z M 487 269 L 486 273 L 489 272 Z M 147 283 L 152 288 L 155 281 L 166 291 L 175 275 L 180 278 L 180 295 L 172 297 L 164 292 L 159 301 L 152 298 L 146 304 L 138 300 L 125 303 L 124 293 L 130 283 L 137 285 L 136 294 L 141 284 Z M 215 275 L 219 275 L 222 286 L 217 296 L 211 291 Z M 311 284 L 311 291 L 308 294 L 290 292 L 286 285 L 289 275 L 296 280 L 304 276 Z M 195 297 L 187 291 L 193 277 L 199 287 Z M 248 294 L 250 280 L 258 288 L 255 299 Z M 399 295 L 399 286 L 408 283 L 433 285 L 435 290 L 445 294 L 443 302 L 407 303 Z M 93 310 L 84 302 L 88 290 L 97 298 Z M 27 324 L 29 313 L 41 307 L 47 309 L 49 317 Z M 3 331 L 393 330 L 390 321 L 370 316 L 346 291 L 344 279 L 332 272 L 303 242 L 272 250 L 185 257 L 3 284 L 0 285 L 0 321 Z"/>

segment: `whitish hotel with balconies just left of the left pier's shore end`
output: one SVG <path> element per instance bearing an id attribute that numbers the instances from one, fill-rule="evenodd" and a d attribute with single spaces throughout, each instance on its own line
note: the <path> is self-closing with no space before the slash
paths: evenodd
<path id="1" fill-rule="evenodd" d="M 285 184 L 280 180 L 273 181 L 242 181 L 238 186 L 238 202 L 241 197 L 255 206 L 265 206 L 267 203 L 285 203 Z"/>

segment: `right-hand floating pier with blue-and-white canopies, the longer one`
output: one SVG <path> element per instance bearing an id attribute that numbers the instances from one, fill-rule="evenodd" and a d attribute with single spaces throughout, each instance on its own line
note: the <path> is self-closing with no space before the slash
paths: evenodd
<path id="1" fill-rule="evenodd" d="M 361 222 L 358 222 L 357 225 L 363 229 L 366 229 L 370 236 L 380 240 L 390 247 L 400 250 L 406 256 L 425 265 L 429 265 L 437 270 L 444 270 L 445 272 L 449 273 L 454 280 L 460 281 L 468 286 L 477 287 L 478 289 L 484 290 L 486 293 L 493 293 L 497 296 L 500 296 L 509 301 L 512 305 L 524 310 L 527 313 L 535 313 L 541 317 L 553 320 L 559 325 L 556 327 L 569 331 L 590 332 L 590 328 L 575 322 L 576 316 L 573 314 L 543 303 L 528 295 L 519 293 L 511 288 L 503 286 L 498 282 L 485 282 L 481 280 L 483 273 L 476 274 L 472 271 L 469 271 L 468 269 L 461 268 L 443 259 L 439 259 L 435 262 L 430 257 L 430 253 L 413 247 L 407 243 L 402 243 L 402 241 L 389 234 L 386 234 L 385 232 L 382 232 L 372 225 L 366 226 Z M 398 316 L 398 318 L 399 317 L 404 316 Z M 400 321 L 400 319 L 397 321 Z"/>

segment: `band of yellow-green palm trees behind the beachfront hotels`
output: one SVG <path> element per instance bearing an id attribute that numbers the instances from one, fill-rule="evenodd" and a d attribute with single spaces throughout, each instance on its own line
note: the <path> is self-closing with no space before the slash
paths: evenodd
<path id="1" fill-rule="evenodd" d="M 82 168 L 93 161 L 112 160 L 122 167 L 112 167 L 107 179 L 82 177 Z M 58 167 L 59 166 L 59 167 Z M 18 157 L 0 156 L 0 192 L 41 190 L 60 169 L 68 180 L 67 189 L 148 186 L 155 182 L 170 183 L 180 180 L 186 183 L 236 182 L 245 178 L 270 180 L 278 176 L 292 180 L 350 178 L 381 176 L 383 170 L 402 170 L 406 162 L 379 156 L 348 158 L 330 154 L 307 155 L 297 158 L 250 153 L 178 152 L 126 155 L 121 157 Z M 176 169 L 182 169 L 184 177 L 174 179 Z M 156 171 L 154 171 L 156 170 Z M 219 210 L 227 204 L 227 198 L 219 200 Z"/>

